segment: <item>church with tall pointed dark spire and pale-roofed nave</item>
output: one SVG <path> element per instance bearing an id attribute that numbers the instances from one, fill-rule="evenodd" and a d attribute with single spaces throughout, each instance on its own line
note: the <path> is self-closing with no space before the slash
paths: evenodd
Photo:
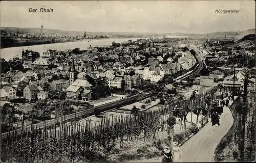
<path id="1" fill-rule="evenodd" d="M 69 72 L 69 87 L 66 89 L 67 98 L 72 100 L 88 101 L 92 98 L 93 86 L 84 79 L 77 79 L 78 72 L 75 70 L 74 56 Z"/>

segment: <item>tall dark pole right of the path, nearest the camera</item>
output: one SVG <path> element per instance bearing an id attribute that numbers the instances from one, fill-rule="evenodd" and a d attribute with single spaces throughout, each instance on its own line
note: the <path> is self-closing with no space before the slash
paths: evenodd
<path id="1" fill-rule="evenodd" d="M 247 86 L 248 86 L 248 74 L 244 79 L 244 94 L 243 94 L 243 109 L 242 109 L 242 131 L 240 141 L 240 161 L 244 161 L 244 141 L 245 141 L 245 123 L 246 123 L 246 112 L 247 112 Z"/>

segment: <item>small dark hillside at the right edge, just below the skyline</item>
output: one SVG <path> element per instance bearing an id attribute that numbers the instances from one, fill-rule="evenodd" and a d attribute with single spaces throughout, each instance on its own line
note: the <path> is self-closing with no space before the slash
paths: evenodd
<path id="1" fill-rule="evenodd" d="M 255 34 L 244 36 L 242 39 L 235 42 L 234 46 L 240 46 L 243 48 L 255 47 Z"/>

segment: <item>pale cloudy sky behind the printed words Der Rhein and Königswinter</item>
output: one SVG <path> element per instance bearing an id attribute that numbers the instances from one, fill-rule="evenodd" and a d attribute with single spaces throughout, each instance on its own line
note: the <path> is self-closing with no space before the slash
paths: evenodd
<path id="1" fill-rule="evenodd" d="M 29 12 L 29 8 L 37 12 Z M 42 13 L 40 8 L 53 12 Z M 240 10 L 216 13 L 216 10 Z M 88 32 L 211 33 L 255 29 L 255 1 L 1 1 L 1 26 Z"/>

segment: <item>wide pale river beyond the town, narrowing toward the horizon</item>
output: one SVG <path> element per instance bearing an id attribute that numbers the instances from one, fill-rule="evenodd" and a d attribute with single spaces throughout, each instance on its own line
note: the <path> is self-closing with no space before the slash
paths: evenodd
<path id="1" fill-rule="evenodd" d="M 12 57 L 22 57 L 22 49 L 28 49 L 33 51 L 38 51 L 40 54 L 47 49 L 53 50 L 66 50 L 66 49 L 74 49 L 76 47 L 80 49 L 87 49 L 90 45 L 92 46 L 102 46 L 102 45 L 111 45 L 112 42 L 121 43 L 128 40 L 136 41 L 137 39 L 148 39 L 148 38 L 115 38 L 115 39 L 99 39 L 99 40 L 82 40 L 75 42 L 62 42 L 62 43 L 54 43 L 54 44 L 44 44 L 44 45 L 32 45 L 32 46 L 19 46 L 19 47 L 9 47 L 1 49 L 1 58 L 8 61 Z"/>

